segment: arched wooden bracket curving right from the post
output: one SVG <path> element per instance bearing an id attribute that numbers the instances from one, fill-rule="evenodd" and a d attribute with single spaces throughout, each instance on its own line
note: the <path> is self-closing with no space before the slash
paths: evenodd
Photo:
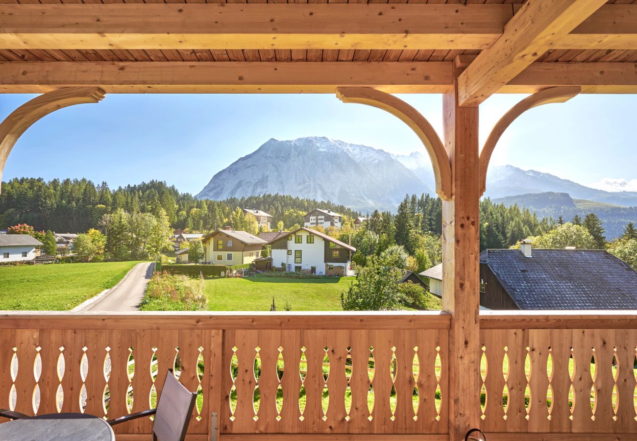
<path id="1" fill-rule="evenodd" d="M 522 99 L 519 103 L 511 108 L 501 117 L 496 125 L 489 133 L 489 138 L 484 143 L 484 147 L 480 151 L 480 196 L 482 196 L 487 188 L 487 168 L 497 141 L 500 139 L 508 126 L 511 125 L 517 117 L 527 110 L 550 103 L 566 103 L 569 99 L 575 97 L 582 91 L 577 87 L 551 87 L 550 89 L 540 90 L 527 98 Z"/>

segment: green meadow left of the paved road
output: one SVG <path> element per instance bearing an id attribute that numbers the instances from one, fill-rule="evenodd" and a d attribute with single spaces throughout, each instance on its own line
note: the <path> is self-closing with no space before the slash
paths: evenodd
<path id="1" fill-rule="evenodd" d="M 0 310 L 62 311 L 115 286 L 139 262 L 0 267 Z"/>

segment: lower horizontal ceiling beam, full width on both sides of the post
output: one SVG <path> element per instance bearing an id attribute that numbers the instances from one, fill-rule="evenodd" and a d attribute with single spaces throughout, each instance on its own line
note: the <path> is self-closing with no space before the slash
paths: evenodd
<path id="1" fill-rule="evenodd" d="M 99 85 L 108 93 L 329 93 L 339 86 L 445 93 L 452 62 L 0 62 L 0 93 Z M 534 62 L 498 90 L 637 93 L 637 63 Z"/>

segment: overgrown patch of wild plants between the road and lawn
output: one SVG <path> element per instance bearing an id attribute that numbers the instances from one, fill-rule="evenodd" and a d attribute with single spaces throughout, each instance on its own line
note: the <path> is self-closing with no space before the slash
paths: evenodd
<path id="1" fill-rule="evenodd" d="M 203 293 L 203 278 L 192 280 L 185 275 L 162 271 L 148 282 L 141 301 L 143 311 L 201 311 L 208 309 L 208 297 Z"/>

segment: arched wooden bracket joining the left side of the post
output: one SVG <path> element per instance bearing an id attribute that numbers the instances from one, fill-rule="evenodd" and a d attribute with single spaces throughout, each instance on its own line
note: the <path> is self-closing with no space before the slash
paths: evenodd
<path id="1" fill-rule="evenodd" d="M 402 99 L 371 87 L 338 87 L 336 98 L 343 103 L 366 104 L 385 110 L 411 127 L 424 144 L 431 159 L 434 177 L 436 177 L 436 193 L 440 199 L 452 198 L 451 165 L 447 150 L 438 133 L 420 112 Z"/>

